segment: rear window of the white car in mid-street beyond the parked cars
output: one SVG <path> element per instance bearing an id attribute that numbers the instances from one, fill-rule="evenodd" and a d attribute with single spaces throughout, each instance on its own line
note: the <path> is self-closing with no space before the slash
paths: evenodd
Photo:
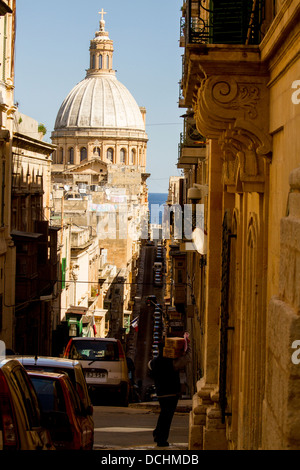
<path id="1" fill-rule="evenodd" d="M 116 342 L 111 341 L 74 341 L 71 349 L 73 359 L 91 361 L 118 361 L 119 350 Z"/>

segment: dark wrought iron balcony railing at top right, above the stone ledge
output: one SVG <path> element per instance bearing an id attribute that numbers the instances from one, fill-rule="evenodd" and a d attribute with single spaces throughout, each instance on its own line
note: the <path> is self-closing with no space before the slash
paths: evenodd
<path id="1" fill-rule="evenodd" d="M 181 42 L 184 37 L 185 44 L 259 44 L 264 7 L 265 0 L 188 0 Z"/>

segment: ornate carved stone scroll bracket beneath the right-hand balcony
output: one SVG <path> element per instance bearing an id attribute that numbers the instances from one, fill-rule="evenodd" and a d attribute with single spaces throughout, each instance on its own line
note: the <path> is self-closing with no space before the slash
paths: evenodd
<path id="1" fill-rule="evenodd" d="M 263 157 L 271 153 L 266 79 L 247 75 L 204 78 L 193 108 L 199 132 L 217 139 L 223 150 L 227 190 L 263 192 Z"/>

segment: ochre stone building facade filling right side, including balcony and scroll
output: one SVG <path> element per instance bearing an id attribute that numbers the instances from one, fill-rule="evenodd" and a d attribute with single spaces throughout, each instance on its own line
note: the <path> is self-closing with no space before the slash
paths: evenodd
<path id="1" fill-rule="evenodd" d="M 190 448 L 299 448 L 300 369 L 291 360 L 299 2 L 187 0 L 182 15 L 180 106 L 193 111 L 206 139 L 200 183 L 208 184 L 204 291 L 198 265 L 188 318 L 201 334 Z M 199 166 L 189 169 L 196 178 Z"/>

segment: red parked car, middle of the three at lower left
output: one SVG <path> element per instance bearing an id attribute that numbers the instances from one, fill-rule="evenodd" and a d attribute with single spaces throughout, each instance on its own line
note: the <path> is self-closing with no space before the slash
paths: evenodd
<path id="1" fill-rule="evenodd" d="M 90 426 L 69 376 L 44 371 L 28 371 L 28 375 L 54 447 L 57 450 L 92 450 L 94 426 Z"/>

